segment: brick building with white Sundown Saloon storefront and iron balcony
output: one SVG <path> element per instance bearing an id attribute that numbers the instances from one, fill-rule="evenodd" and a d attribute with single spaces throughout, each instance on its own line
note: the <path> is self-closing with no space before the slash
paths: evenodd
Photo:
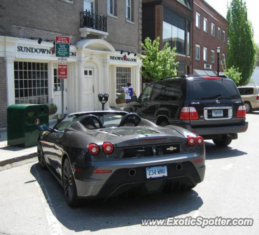
<path id="1" fill-rule="evenodd" d="M 15 7 L 14 7 L 15 6 Z M 116 106 L 127 82 L 140 92 L 141 0 L 1 0 L 0 128 L 8 105 L 50 103 L 61 113 L 55 36 L 71 39 L 65 111 Z"/>

